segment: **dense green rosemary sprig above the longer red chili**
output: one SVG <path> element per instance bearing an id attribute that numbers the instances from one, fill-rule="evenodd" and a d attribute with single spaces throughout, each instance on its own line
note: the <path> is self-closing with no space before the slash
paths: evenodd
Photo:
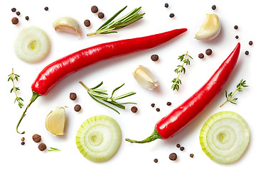
<path id="1" fill-rule="evenodd" d="M 122 13 L 124 9 L 127 8 L 127 6 L 124 6 L 120 11 L 114 14 L 109 20 L 107 20 L 105 23 L 100 26 L 94 33 L 88 33 L 87 36 L 90 35 L 96 35 L 96 34 L 109 34 L 109 33 L 117 33 L 115 30 L 119 30 L 121 28 L 124 28 L 126 26 L 129 26 L 130 24 L 139 21 L 142 19 L 145 13 L 139 14 L 139 11 L 142 7 L 134 8 L 132 11 L 127 13 L 127 15 L 123 16 L 122 18 L 119 18 L 117 21 L 113 21 L 114 18 L 116 18 L 119 13 Z"/>

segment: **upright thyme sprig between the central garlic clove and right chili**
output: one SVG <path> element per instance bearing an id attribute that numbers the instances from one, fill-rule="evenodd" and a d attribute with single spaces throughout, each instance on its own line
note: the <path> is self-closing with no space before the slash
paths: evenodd
<path id="1" fill-rule="evenodd" d="M 185 55 L 178 56 L 178 60 L 181 60 L 181 62 L 183 62 L 183 64 L 178 65 L 177 68 L 174 69 L 174 72 L 176 72 L 176 74 L 178 74 L 178 77 L 171 81 L 173 83 L 173 85 L 171 86 L 171 89 L 174 89 L 176 91 L 179 90 L 179 84 L 181 84 L 181 79 L 179 79 L 179 77 L 182 72 L 183 72 L 183 74 L 186 73 L 186 69 L 185 69 L 184 65 L 185 64 L 190 65 L 189 58 L 193 59 L 190 55 L 188 55 L 188 52 L 186 52 Z"/>

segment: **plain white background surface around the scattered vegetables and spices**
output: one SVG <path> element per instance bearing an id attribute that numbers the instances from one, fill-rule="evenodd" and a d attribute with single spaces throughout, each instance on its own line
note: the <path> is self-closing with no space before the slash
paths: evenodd
<path id="1" fill-rule="evenodd" d="M 169 8 L 164 4 L 169 3 Z M 92 5 L 97 5 L 99 11 L 105 13 L 105 18 L 100 20 L 95 13 L 90 11 Z M 110 18 L 120 8 L 128 6 L 121 15 L 128 13 L 133 8 L 142 6 L 142 12 L 146 15 L 141 21 L 134 23 L 117 34 L 95 35 L 86 37 L 86 33 L 93 32 Z M 211 6 L 216 5 L 215 11 Z M 43 8 L 48 6 L 49 11 Z M 0 169 L 242 169 L 245 165 L 255 167 L 255 45 L 248 45 L 252 40 L 256 43 L 255 33 L 255 1 L 203 1 L 203 0 L 182 0 L 182 1 L 5 1 L 1 5 L 1 150 Z M 17 26 L 11 23 L 11 18 L 16 16 L 11 12 L 11 8 L 17 8 L 21 12 L 18 16 L 20 22 Z M 169 14 L 174 13 L 174 18 L 169 18 Z M 220 35 L 210 42 L 196 40 L 199 26 L 206 18 L 206 13 L 216 13 L 222 23 Z M 25 20 L 29 16 L 29 21 Z M 55 33 L 53 22 L 55 19 L 70 16 L 75 18 L 81 27 L 82 37 L 80 40 L 76 35 L 68 33 Z M 85 28 L 83 21 L 90 19 L 90 28 Z M 239 26 L 238 30 L 233 27 Z M 28 64 L 16 57 L 14 54 L 14 41 L 18 32 L 27 26 L 38 26 L 46 31 L 50 38 L 50 53 L 45 60 Z M 165 45 L 155 47 L 151 50 L 127 55 L 113 60 L 107 60 L 93 64 L 82 69 L 80 72 L 70 75 L 60 81 L 53 88 L 48 96 L 38 98 L 28 109 L 26 117 L 21 122 L 19 130 L 25 130 L 24 135 L 16 133 L 16 123 L 23 112 L 18 108 L 18 103 L 14 103 L 14 94 L 10 94 L 11 82 L 8 82 L 8 75 L 11 68 L 20 75 L 16 86 L 20 87 L 18 96 L 21 96 L 26 105 L 32 96 L 31 84 L 41 69 L 60 57 L 69 55 L 72 52 L 85 47 L 97 45 L 102 42 L 110 42 L 126 38 L 136 38 L 144 35 L 161 33 L 176 28 L 188 28 L 188 31 L 175 40 L 167 42 Z M 239 39 L 235 39 L 235 35 Z M 225 84 L 223 91 L 215 98 L 213 103 L 206 108 L 196 120 L 187 128 L 169 140 L 155 140 L 147 144 L 131 144 L 125 142 L 126 137 L 134 140 L 143 140 L 151 135 L 155 123 L 176 108 L 179 104 L 196 92 L 215 72 L 215 69 L 232 52 L 235 45 L 241 42 L 241 51 L 238 64 L 233 74 Z M 198 58 L 198 54 L 211 48 L 213 55 L 206 56 L 203 60 Z M 244 55 L 245 50 L 250 55 Z M 180 62 L 178 55 L 183 55 L 188 51 L 193 57 L 191 65 L 186 67 L 186 74 L 181 75 L 183 84 L 180 91 L 171 89 L 171 80 L 176 77 L 174 69 Z M 150 56 L 159 55 L 158 62 L 152 62 Z M 139 64 L 148 67 L 159 79 L 159 87 L 154 91 L 148 91 L 139 86 L 132 76 L 132 72 Z M 225 101 L 225 90 L 234 91 L 240 79 L 245 79 L 247 87 L 242 93 L 235 94 L 238 97 L 238 105 L 225 104 L 220 108 L 220 104 Z M 129 91 L 136 91 L 137 94 L 124 101 L 137 103 L 139 111 L 132 113 L 131 105 L 127 109 L 120 111 L 120 115 L 109 108 L 95 103 L 87 95 L 85 89 L 78 83 L 83 81 L 87 86 L 95 86 L 104 81 L 102 89 L 112 91 L 116 86 L 123 83 L 125 85 L 119 90 L 119 94 Z M 77 101 L 69 99 L 70 92 L 78 94 Z M 166 102 L 171 101 L 171 106 L 166 106 Z M 80 113 L 73 110 L 75 104 L 82 106 Z M 156 107 L 161 109 L 156 112 L 151 108 L 151 103 L 156 103 Z M 55 106 L 68 106 L 67 123 L 65 126 L 66 135 L 55 137 L 50 135 L 45 127 L 46 115 Z M 250 127 L 251 137 L 242 157 L 233 164 L 221 165 L 210 160 L 201 150 L 199 143 L 199 132 L 203 123 L 218 111 L 235 111 L 242 115 Z M 75 145 L 75 135 L 81 123 L 92 115 L 110 115 L 117 120 L 122 129 L 122 145 L 117 154 L 109 162 L 95 164 L 88 161 L 78 151 Z M 61 152 L 41 152 L 38 144 L 33 142 L 32 135 L 38 133 L 42 136 L 42 142 L 49 147 L 61 149 Z M 25 137 L 26 145 L 21 145 L 21 137 Z M 181 152 L 176 148 L 180 143 L 185 147 Z M 176 162 L 169 160 L 169 154 L 176 152 L 178 159 Z M 189 154 L 195 156 L 192 159 Z M 153 160 L 159 159 L 155 164 Z"/>

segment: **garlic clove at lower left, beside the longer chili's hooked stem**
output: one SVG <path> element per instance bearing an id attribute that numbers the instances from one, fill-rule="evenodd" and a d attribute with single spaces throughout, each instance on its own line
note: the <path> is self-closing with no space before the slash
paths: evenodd
<path id="1" fill-rule="evenodd" d="M 46 129 L 53 135 L 65 135 L 65 108 L 56 107 L 46 117 Z"/>

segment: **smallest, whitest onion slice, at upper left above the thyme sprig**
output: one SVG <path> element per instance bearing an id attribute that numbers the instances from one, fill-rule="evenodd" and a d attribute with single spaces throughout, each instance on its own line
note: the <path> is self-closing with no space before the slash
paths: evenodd
<path id="1" fill-rule="evenodd" d="M 41 28 L 30 26 L 18 33 L 14 51 L 18 58 L 25 62 L 43 60 L 50 50 L 48 35 Z"/>

